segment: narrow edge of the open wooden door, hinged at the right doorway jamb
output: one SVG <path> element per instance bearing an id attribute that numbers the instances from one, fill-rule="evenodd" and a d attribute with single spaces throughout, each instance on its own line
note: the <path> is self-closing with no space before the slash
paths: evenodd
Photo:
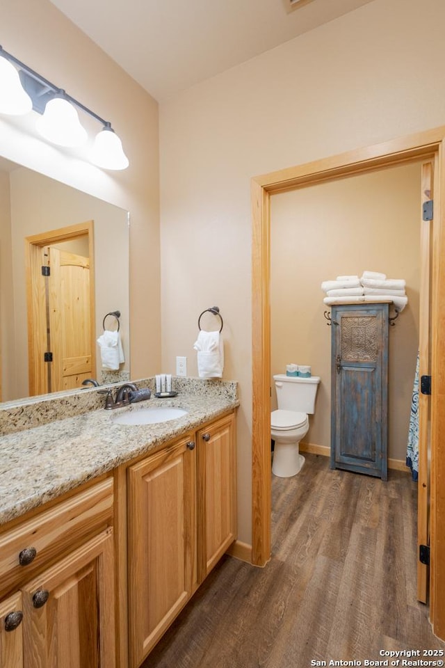
<path id="1" fill-rule="evenodd" d="M 420 304 L 419 304 L 419 379 L 431 375 L 431 252 L 432 252 L 432 210 L 428 202 L 433 198 L 434 164 L 423 163 L 421 177 L 422 211 L 420 235 Z M 419 391 L 419 470 L 417 498 L 417 598 L 422 603 L 428 601 L 428 559 L 422 559 L 423 548 L 430 546 L 430 443 L 431 443 L 431 401 L 430 395 Z"/>

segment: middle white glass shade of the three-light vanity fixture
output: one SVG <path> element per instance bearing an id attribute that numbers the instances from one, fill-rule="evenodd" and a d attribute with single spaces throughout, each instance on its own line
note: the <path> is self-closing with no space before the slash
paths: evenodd
<path id="1" fill-rule="evenodd" d="M 82 127 L 76 109 L 63 95 L 47 102 L 35 127 L 42 137 L 58 146 L 81 146 L 87 140 L 86 129 Z"/>

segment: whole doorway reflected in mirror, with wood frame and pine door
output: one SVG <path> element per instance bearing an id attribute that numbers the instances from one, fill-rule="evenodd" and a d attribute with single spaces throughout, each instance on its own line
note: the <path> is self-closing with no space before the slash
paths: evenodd
<path id="1" fill-rule="evenodd" d="M 95 376 L 93 221 L 26 237 L 29 395 Z"/>

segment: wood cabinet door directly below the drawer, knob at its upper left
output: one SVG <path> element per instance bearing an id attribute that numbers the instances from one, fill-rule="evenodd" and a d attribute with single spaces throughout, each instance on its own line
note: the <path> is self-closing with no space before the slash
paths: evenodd
<path id="1" fill-rule="evenodd" d="M 22 589 L 25 668 L 115 668 L 113 530 Z"/>

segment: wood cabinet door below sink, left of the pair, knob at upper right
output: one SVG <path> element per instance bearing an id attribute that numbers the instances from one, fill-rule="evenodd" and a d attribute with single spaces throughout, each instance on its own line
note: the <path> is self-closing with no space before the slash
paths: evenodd
<path id="1" fill-rule="evenodd" d="M 139 666 L 193 593 L 195 442 L 128 470 L 130 665 Z"/>

